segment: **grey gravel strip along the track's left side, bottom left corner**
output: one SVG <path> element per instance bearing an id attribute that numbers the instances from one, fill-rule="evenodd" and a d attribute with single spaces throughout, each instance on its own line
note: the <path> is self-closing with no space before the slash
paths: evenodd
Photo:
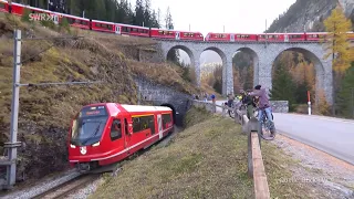
<path id="1" fill-rule="evenodd" d="M 61 175 L 61 177 L 53 177 L 51 179 L 46 179 L 45 181 L 40 182 L 39 185 L 24 190 L 19 190 L 13 193 L 7 195 L 2 197 L 3 199 L 27 199 L 33 198 L 40 193 L 43 193 L 54 187 L 58 187 L 71 179 L 76 178 L 80 176 L 80 172 L 75 171 L 74 169 L 65 171 Z"/>

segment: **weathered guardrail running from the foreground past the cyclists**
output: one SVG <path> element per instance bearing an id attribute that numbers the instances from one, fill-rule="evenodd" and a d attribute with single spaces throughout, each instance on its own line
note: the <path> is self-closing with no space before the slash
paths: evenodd
<path id="1" fill-rule="evenodd" d="M 258 135 L 259 123 L 256 117 L 250 119 L 246 113 L 239 109 L 232 109 L 228 106 L 221 106 L 214 103 L 194 101 L 195 106 L 204 106 L 212 113 L 217 113 L 217 107 L 221 108 L 222 117 L 227 116 L 227 111 L 235 112 L 235 123 L 242 126 L 242 133 L 248 135 L 248 175 L 253 178 L 256 199 L 270 199 L 270 191 L 266 175 L 266 169 L 261 153 L 261 139 Z"/>

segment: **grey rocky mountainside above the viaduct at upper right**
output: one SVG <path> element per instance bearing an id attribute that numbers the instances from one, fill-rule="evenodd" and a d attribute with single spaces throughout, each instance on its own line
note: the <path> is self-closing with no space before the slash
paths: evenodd
<path id="1" fill-rule="evenodd" d="M 354 1 L 340 0 L 346 17 L 354 21 Z M 296 0 L 289 10 L 272 22 L 267 32 L 321 32 L 323 21 L 336 7 L 337 0 Z"/>

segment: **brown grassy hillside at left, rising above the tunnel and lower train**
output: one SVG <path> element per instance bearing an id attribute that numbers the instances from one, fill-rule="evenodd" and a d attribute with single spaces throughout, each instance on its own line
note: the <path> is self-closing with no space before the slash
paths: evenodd
<path id="1" fill-rule="evenodd" d="M 25 40 L 22 43 L 21 83 L 103 81 L 102 84 L 21 87 L 18 179 L 38 179 L 67 166 L 70 121 L 82 105 L 97 102 L 136 104 L 135 76 L 174 86 L 187 94 L 197 90 L 181 76 L 185 69 L 160 62 L 139 62 L 137 51 L 157 51 L 148 39 L 44 28 L 0 13 L 0 153 L 9 139 L 13 29 L 22 38 L 82 35 L 79 40 Z M 69 33 L 67 33 L 69 31 Z M 157 61 L 155 61 L 157 62 Z"/>

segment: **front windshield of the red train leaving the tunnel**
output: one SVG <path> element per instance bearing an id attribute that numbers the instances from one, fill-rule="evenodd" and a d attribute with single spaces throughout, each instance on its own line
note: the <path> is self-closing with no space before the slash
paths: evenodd
<path id="1" fill-rule="evenodd" d="M 87 146 L 100 142 L 107 118 L 105 106 L 84 107 L 73 121 L 71 144 Z"/>

